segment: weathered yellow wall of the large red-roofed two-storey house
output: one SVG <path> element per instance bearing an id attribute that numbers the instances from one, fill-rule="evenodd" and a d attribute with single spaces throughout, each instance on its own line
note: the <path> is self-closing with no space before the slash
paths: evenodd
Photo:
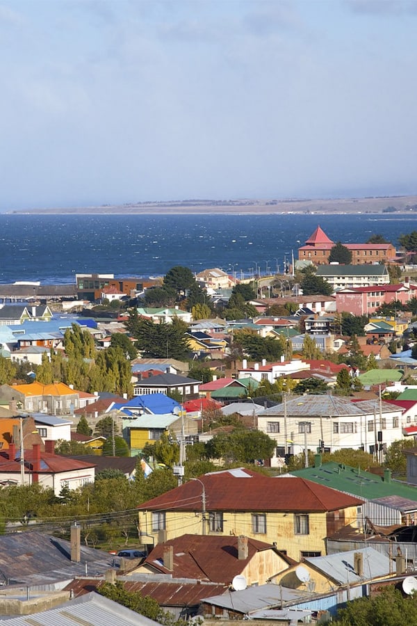
<path id="1" fill-rule="evenodd" d="M 208 508 L 209 511 L 209 508 Z M 345 508 L 345 524 L 356 521 L 356 507 Z M 277 549 L 286 550 L 288 556 L 300 561 L 301 551 L 321 552 L 326 554 L 325 538 L 327 536 L 326 513 L 309 514 L 309 534 L 295 535 L 293 513 L 266 513 L 266 533 L 252 531 L 251 513 L 224 512 L 223 535 L 245 535 L 266 543 L 277 543 Z M 154 536 L 158 543 L 158 531 L 152 531 L 152 511 L 139 512 L 140 530 Z M 166 511 L 165 529 L 167 540 L 179 537 L 184 533 L 202 534 L 201 513 L 189 511 Z M 206 524 L 206 534 L 208 524 Z"/>

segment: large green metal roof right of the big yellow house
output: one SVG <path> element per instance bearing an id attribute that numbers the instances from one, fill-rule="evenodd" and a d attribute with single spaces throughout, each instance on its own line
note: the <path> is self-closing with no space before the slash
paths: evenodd
<path id="1" fill-rule="evenodd" d="M 303 470 L 295 470 L 291 474 L 367 500 L 399 496 L 416 502 L 417 508 L 416 487 L 411 487 L 399 481 L 384 481 L 382 476 L 359 470 L 358 467 L 330 462 L 324 463 L 320 467 L 306 467 Z"/>

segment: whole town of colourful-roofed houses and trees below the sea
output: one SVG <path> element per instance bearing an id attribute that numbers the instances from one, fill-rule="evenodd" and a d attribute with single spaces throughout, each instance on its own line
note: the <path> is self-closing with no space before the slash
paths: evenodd
<path id="1" fill-rule="evenodd" d="M 411 235 L 318 225 L 249 278 L 0 284 L 0 615 L 58 623 L 71 599 L 83 624 L 337 625 L 362 597 L 408 606 Z M 126 608 L 146 597 L 154 613 Z"/>

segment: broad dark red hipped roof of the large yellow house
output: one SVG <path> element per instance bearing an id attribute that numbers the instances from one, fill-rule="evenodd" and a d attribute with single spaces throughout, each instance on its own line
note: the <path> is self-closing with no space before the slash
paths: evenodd
<path id="1" fill-rule="evenodd" d="M 275 479 L 251 470 L 199 476 L 210 511 L 325 512 L 359 506 L 361 500 L 323 485 L 295 478 Z M 201 511 L 202 485 L 188 481 L 138 506 L 142 511 Z"/>

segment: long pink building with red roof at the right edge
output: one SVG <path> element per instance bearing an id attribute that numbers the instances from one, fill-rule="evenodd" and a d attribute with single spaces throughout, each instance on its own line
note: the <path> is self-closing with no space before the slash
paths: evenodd
<path id="1" fill-rule="evenodd" d="M 383 304 L 399 300 L 405 304 L 417 296 L 417 285 L 404 282 L 400 284 L 379 284 L 373 287 L 352 287 L 336 291 L 336 311 L 354 315 L 370 315 Z"/>

